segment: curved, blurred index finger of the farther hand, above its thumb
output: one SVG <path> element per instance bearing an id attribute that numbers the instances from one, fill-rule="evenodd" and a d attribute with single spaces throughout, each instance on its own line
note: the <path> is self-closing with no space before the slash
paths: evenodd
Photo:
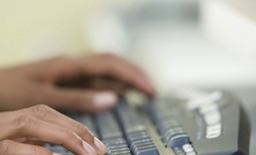
<path id="1" fill-rule="evenodd" d="M 77 61 L 84 74 L 108 75 L 147 93 L 154 94 L 154 89 L 147 76 L 128 60 L 114 55 L 91 56 Z"/>

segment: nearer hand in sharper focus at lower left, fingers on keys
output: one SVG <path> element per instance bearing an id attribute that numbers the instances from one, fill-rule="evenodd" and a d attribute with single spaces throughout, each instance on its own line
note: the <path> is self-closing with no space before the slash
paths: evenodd
<path id="1" fill-rule="evenodd" d="M 76 155 L 107 152 L 106 146 L 82 124 L 47 105 L 0 113 L 0 154 L 57 155 L 31 143 L 62 145 Z"/>

